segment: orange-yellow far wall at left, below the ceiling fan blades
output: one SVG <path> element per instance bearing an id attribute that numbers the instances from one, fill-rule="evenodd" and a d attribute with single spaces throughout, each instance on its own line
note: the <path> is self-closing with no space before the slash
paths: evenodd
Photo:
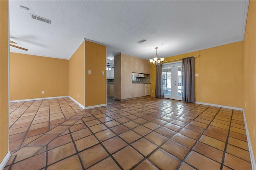
<path id="1" fill-rule="evenodd" d="M 10 101 L 68 96 L 68 60 L 10 53 L 9 88 Z"/>

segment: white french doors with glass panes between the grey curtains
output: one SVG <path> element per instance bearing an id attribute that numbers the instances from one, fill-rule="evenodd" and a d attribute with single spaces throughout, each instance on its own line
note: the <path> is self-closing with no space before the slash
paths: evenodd
<path id="1" fill-rule="evenodd" d="M 162 65 L 164 98 L 182 100 L 182 62 Z"/>

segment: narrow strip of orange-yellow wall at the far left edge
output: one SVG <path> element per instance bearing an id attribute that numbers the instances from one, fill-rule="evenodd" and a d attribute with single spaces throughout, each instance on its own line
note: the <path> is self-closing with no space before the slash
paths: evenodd
<path id="1" fill-rule="evenodd" d="M 0 1 L 0 162 L 9 146 L 8 100 L 8 1 Z M 2 167 L 1 167 L 2 168 Z"/>

